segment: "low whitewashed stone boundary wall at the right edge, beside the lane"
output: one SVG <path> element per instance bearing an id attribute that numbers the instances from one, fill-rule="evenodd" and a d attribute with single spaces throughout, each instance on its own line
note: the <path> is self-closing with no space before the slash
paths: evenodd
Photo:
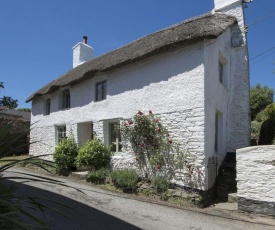
<path id="1" fill-rule="evenodd" d="M 238 208 L 275 215 L 275 145 L 237 150 Z"/>

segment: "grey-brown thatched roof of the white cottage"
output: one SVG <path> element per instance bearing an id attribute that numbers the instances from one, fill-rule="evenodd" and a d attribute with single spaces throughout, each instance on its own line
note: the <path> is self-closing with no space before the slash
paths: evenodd
<path id="1" fill-rule="evenodd" d="M 217 38 L 236 23 L 237 19 L 233 16 L 215 13 L 170 26 L 77 66 L 36 91 L 26 102 L 52 93 L 59 87 L 74 85 L 92 78 L 99 72 L 110 71 L 203 39 Z"/>

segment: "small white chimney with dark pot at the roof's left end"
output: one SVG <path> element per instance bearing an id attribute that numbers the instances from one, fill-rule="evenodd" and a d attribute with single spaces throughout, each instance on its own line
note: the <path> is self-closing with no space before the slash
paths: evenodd
<path id="1" fill-rule="evenodd" d="M 94 49 L 87 44 L 88 37 L 83 36 L 82 42 L 73 47 L 73 68 L 93 58 Z"/>

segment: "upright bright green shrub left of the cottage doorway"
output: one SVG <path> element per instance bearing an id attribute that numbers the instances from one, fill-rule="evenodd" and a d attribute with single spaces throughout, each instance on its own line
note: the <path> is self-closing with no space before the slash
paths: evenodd
<path id="1" fill-rule="evenodd" d="M 59 145 L 55 148 L 53 159 L 57 168 L 62 169 L 75 165 L 75 159 L 78 154 L 78 146 L 73 134 L 61 140 Z"/>

